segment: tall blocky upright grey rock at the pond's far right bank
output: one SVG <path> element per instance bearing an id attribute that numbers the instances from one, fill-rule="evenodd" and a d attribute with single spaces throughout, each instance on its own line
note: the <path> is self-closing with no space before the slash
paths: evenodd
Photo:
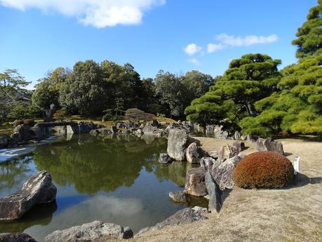
<path id="1" fill-rule="evenodd" d="M 187 130 L 173 128 L 169 130 L 167 152 L 176 161 L 185 161 L 185 151 L 189 145 L 189 133 Z"/>

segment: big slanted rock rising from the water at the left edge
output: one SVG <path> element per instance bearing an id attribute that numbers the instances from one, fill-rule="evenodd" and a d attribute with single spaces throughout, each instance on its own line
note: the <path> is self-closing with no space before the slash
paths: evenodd
<path id="1" fill-rule="evenodd" d="M 40 171 L 30 177 L 20 191 L 0 199 L 0 220 L 16 220 L 36 204 L 54 201 L 56 193 L 51 175 Z"/>

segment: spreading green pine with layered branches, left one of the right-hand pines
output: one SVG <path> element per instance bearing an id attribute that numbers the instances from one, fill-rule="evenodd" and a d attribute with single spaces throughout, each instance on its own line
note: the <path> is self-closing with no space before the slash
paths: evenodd
<path id="1" fill-rule="evenodd" d="M 185 109 L 187 119 L 202 126 L 217 123 L 236 126 L 245 116 L 255 116 L 255 102 L 277 90 L 280 63 L 280 60 L 262 54 L 248 54 L 232 60 L 224 76 L 218 77 L 205 95 Z"/>

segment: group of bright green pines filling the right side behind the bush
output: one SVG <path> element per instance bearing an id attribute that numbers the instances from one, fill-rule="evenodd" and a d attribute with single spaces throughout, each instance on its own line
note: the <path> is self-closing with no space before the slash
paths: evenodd
<path id="1" fill-rule="evenodd" d="M 322 1 L 297 30 L 297 64 L 279 72 L 280 60 L 248 54 L 201 98 L 185 109 L 187 119 L 222 124 L 243 134 L 267 136 L 281 130 L 322 135 Z"/>

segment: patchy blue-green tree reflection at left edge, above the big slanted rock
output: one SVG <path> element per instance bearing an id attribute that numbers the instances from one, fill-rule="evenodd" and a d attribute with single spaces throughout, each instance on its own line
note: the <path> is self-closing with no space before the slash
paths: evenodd
<path id="1" fill-rule="evenodd" d="M 0 192 L 4 189 L 17 191 L 21 189 L 22 182 L 28 179 L 30 159 L 11 160 L 0 165 Z"/>

